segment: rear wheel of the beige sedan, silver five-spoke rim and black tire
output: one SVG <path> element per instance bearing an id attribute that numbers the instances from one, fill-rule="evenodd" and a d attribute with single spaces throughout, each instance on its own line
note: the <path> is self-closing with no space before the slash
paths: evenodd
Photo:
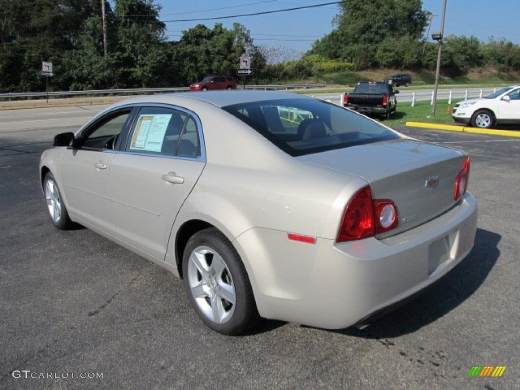
<path id="1" fill-rule="evenodd" d="M 240 256 L 216 228 L 201 230 L 188 240 L 183 277 L 195 311 L 214 331 L 239 334 L 259 319 Z"/>

